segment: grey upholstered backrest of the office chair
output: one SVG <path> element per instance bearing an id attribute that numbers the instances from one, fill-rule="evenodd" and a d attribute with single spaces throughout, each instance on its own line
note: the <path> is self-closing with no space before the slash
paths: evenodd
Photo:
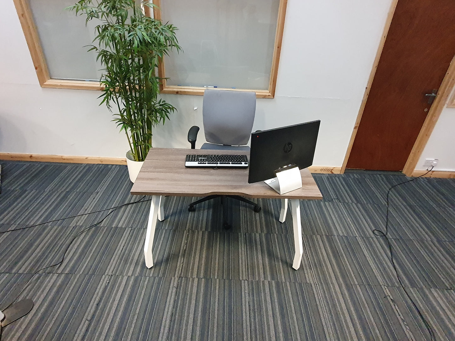
<path id="1" fill-rule="evenodd" d="M 202 101 L 205 139 L 219 145 L 246 145 L 255 113 L 253 91 L 206 89 Z"/>

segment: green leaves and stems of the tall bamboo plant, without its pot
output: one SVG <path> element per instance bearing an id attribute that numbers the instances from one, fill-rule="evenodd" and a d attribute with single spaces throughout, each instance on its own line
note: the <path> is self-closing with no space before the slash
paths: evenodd
<path id="1" fill-rule="evenodd" d="M 174 106 L 158 99 L 158 61 L 178 45 L 171 24 L 149 18 L 141 7 L 154 6 L 148 0 L 81 0 L 68 7 L 76 15 L 86 15 L 86 24 L 98 19 L 96 37 L 90 45 L 103 65 L 102 103 L 116 112 L 113 121 L 128 138 L 134 160 L 143 161 L 152 147 L 152 128 L 169 119 Z"/>

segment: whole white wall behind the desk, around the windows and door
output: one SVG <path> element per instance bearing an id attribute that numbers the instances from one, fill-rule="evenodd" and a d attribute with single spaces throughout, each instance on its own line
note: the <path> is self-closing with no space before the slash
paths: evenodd
<path id="1" fill-rule="evenodd" d="M 4 2 L 0 152 L 124 157 L 126 138 L 110 121 L 109 111 L 98 106 L 99 92 L 39 86 L 13 1 Z M 276 96 L 258 99 L 253 129 L 320 119 L 313 164 L 341 166 L 390 3 L 288 0 Z M 189 127 L 202 127 L 202 96 L 163 97 L 178 113 L 155 130 L 153 145 L 187 148 Z M 454 123 L 452 114 L 443 113 L 441 120 L 451 117 Z M 438 123 L 436 132 L 438 138 L 432 136 L 425 155 L 434 154 L 441 166 L 447 162 L 455 170 L 453 148 L 447 146 L 447 141 L 454 145 L 448 123 Z M 203 132 L 199 134 L 197 146 L 203 142 Z"/>

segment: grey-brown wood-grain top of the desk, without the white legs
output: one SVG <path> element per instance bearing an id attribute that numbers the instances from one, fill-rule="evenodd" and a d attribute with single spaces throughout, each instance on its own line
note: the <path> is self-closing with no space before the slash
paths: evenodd
<path id="1" fill-rule="evenodd" d="M 248 168 L 213 169 L 185 167 L 185 156 L 187 154 L 243 153 L 238 150 L 152 148 L 148 152 L 142 169 L 131 188 L 131 194 L 148 196 L 207 196 L 222 194 L 250 198 L 322 199 L 322 194 L 308 169 L 300 171 L 302 188 L 280 195 L 263 181 L 249 184 Z"/>

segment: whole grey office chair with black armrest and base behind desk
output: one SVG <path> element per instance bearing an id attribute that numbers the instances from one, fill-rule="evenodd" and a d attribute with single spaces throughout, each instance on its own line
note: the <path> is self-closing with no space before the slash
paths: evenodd
<path id="1" fill-rule="evenodd" d="M 202 100 L 202 121 L 204 125 L 205 139 L 201 149 L 238 150 L 249 151 L 246 144 L 253 129 L 254 114 L 256 112 L 256 93 L 252 91 L 233 91 L 206 89 Z M 197 132 L 199 127 L 194 125 L 188 131 L 188 142 L 195 149 Z M 201 202 L 221 197 L 223 207 L 223 227 L 227 230 L 231 226 L 227 223 L 225 197 L 222 195 L 206 196 L 193 201 L 188 206 L 188 211 L 195 211 L 195 205 Z M 230 198 L 253 205 L 255 212 L 261 211 L 261 207 L 255 202 L 241 196 L 228 196 Z"/>

